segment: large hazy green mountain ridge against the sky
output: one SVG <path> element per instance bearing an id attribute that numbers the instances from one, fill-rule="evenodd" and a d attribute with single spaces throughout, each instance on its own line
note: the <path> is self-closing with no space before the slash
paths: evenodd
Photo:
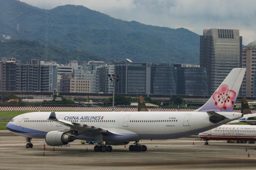
<path id="1" fill-rule="evenodd" d="M 0 4 L 0 34 L 11 39 L 90 52 L 105 61 L 199 63 L 200 37 L 185 28 L 127 22 L 83 6 L 45 10 L 17 0 L 0 0 Z"/>

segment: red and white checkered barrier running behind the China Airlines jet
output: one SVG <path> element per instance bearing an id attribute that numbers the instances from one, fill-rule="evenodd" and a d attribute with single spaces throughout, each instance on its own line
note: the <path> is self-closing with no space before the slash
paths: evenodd
<path id="1" fill-rule="evenodd" d="M 90 108 L 90 107 L 0 107 L 0 111 L 112 111 L 111 108 Z M 114 111 L 130 112 L 137 111 L 137 108 L 114 108 Z M 195 109 L 148 109 L 149 111 L 186 111 L 191 112 Z M 241 112 L 241 110 L 233 110 L 233 112 Z M 252 113 L 256 113 L 256 110 L 252 110 Z"/>

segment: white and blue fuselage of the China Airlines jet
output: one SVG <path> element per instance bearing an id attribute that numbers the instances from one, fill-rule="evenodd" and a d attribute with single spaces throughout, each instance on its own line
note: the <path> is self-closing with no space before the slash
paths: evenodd
<path id="1" fill-rule="evenodd" d="M 81 125 L 107 129 L 115 135 L 103 135 L 104 141 L 134 141 L 139 139 L 175 139 L 198 134 L 230 120 L 241 113 L 225 112 L 229 119 L 217 124 L 209 121 L 206 112 L 55 112 L 56 118 Z M 222 112 L 218 112 L 222 114 Z M 50 112 L 31 112 L 16 116 L 7 128 L 17 135 L 45 138 L 49 131 L 69 127 L 48 120 Z M 76 136 L 81 140 L 95 140 L 95 133 L 87 130 Z"/>

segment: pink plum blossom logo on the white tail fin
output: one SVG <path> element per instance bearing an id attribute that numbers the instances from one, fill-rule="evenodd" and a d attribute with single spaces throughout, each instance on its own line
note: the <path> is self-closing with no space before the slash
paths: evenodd
<path id="1" fill-rule="evenodd" d="M 229 87 L 225 84 L 219 87 L 219 91 L 213 94 L 215 105 L 218 109 L 231 108 L 234 104 L 232 101 L 235 98 L 236 93 L 233 90 L 229 90 Z"/>

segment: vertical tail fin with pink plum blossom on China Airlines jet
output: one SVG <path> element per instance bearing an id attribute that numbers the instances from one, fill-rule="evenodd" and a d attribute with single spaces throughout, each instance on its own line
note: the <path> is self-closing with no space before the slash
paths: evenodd
<path id="1" fill-rule="evenodd" d="M 245 71 L 246 68 L 232 69 L 210 99 L 201 108 L 195 111 L 232 112 Z"/>

